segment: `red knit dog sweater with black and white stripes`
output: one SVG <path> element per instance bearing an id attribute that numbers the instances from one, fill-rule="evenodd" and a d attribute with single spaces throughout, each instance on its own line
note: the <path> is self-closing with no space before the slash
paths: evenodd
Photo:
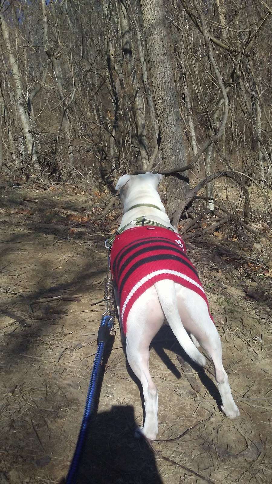
<path id="1" fill-rule="evenodd" d="M 162 279 L 171 279 L 192 289 L 208 305 L 181 236 L 167 228 L 146 226 L 125 230 L 113 242 L 110 265 L 118 287 L 124 333 L 133 303 L 154 282 Z"/>

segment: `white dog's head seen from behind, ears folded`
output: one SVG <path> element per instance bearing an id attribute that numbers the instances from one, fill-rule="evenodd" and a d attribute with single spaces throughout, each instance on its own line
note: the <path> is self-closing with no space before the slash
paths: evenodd
<path id="1" fill-rule="evenodd" d="M 129 193 L 134 190 L 153 189 L 157 191 L 162 178 L 162 175 L 150 173 L 149 171 L 142 175 L 122 175 L 117 182 L 115 190 L 120 190 L 120 197 L 124 204 Z"/>

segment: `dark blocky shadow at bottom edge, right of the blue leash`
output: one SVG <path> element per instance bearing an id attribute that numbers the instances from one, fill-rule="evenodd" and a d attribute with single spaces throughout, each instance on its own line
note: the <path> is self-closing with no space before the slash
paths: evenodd
<path id="1" fill-rule="evenodd" d="M 132 406 L 95 415 L 76 484 L 162 484 L 150 446 L 134 429 Z"/>

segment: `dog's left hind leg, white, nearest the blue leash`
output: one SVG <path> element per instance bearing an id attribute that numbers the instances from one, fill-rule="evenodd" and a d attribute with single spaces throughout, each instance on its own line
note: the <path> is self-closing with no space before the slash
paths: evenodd
<path id="1" fill-rule="evenodd" d="M 163 325 L 164 315 L 154 287 L 147 289 L 132 306 L 127 318 L 126 355 L 139 378 L 144 394 L 145 421 L 137 434 L 154 440 L 158 433 L 158 393 L 149 371 L 149 347 Z"/>

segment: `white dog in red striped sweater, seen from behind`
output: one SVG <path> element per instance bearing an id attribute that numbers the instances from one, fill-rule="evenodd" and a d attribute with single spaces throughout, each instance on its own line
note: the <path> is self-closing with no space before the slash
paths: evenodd
<path id="1" fill-rule="evenodd" d="M 161 179 L 162 175 L 151 173 L 121 176 L 116 185 L 123 202 L 121 235 L 115 237 L 110 252 L 127 360 L 143 386 L 145 421 L 139 432 L 148 439 L 156 439 L 158 433 L 158 393 L 149 371 L 149 347 L 165 318 L 196 363 L 206 362 L 196 347 L 200 344 L 207 352 L 222 410 L 230 419 L 239 416 L 206 295 L 157 192 Z"/>

